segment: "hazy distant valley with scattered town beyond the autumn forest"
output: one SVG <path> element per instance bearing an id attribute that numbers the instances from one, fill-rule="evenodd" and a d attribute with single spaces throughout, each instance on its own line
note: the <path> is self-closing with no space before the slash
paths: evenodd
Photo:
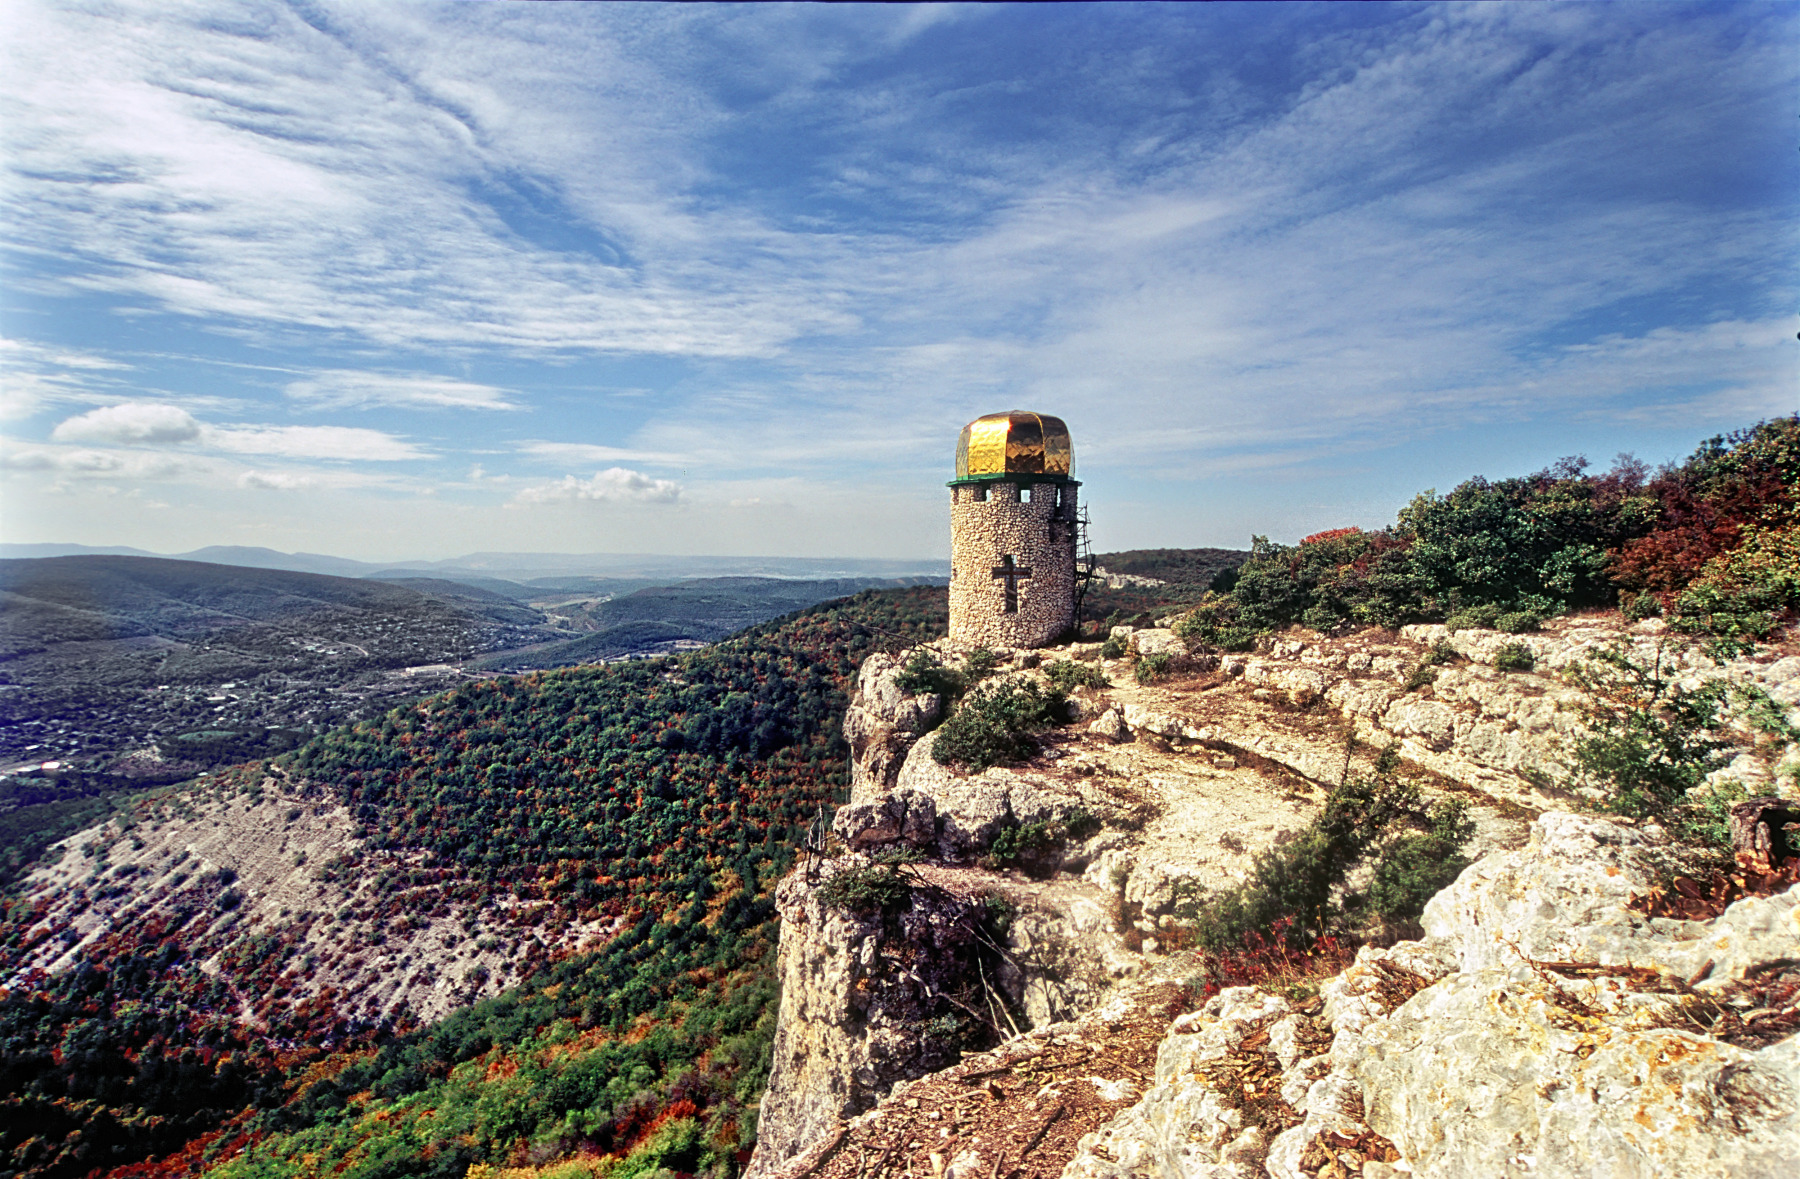
<path id="1" fill-rule="evenodd" d="M 65 794 L 178 781 L 497 670 L 691 650 L 869 585 L 545 581 L 0 562 L 0 774 L 47 776 Z"/>

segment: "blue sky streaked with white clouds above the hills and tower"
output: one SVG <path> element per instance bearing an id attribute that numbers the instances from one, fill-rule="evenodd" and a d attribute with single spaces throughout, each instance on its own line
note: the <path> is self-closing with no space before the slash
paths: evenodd
<path id="1" fill-rule="evenodd" d="M 1381 526 L 1800 407 L 1800 9 L 9 4 L 0 535 Z"/>

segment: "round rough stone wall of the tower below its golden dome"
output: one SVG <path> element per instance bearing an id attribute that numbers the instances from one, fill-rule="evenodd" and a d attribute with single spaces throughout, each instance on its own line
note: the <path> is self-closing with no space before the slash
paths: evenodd
<path id="1" fill-rule="evenodd" d="M 1057 506 L 1057 490 L 1066 502 Z M 986 499 L 976 499 L 986 491 Z M 950 639 L 986 646 L 1044 646 L 1075 621 L 1075 486 L 1039 482 L 950 490 Z M 1001 558 L 1031 571 L 1019 580 L 1019 612 L 1006 614 Z"/>

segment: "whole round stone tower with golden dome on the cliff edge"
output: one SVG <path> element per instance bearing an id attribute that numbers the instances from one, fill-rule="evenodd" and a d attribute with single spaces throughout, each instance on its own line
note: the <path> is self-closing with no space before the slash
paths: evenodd
<path id="1" fill-rule="evenodd" d="M 1069 427 L 1012 410 L 976 418 L 950 481 L 950 639 L 1044 646 L 1075 623 Z"/>

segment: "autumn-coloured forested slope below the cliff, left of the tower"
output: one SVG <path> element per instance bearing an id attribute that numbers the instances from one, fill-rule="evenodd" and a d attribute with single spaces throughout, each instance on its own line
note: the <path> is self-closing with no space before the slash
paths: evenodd
<path id="1" fill-rule="evenodd" d="M 248 1022 L 200 967 L 207 914 L 117 931 L 0 999 L 0 1157 L 18 1175 L 83 1175 L 212 1134 L 220 1156 L 254 1143 L 225 1172 L 247 1175 L 342 1163 L 461 1179 L 583 1148 L 731 1172 L 770 1031 L 769 889 L 844 787 L 844 688 L 869 650 L 943 625 L 940 589 L 866 592 L 688 657 L 466 684 L 313 740 L 290 772 L 416 864 L 364 914 L 376 927 L 452 878 L 495 909 L 614 916 L 619 934 L 407 1030 L 329 995 L 288 1001 L 308 963 L 281 929 L 220 954 L 257 999 Z M 9 947 L 54 936 L 29 904 L 0 927 Z"/>

